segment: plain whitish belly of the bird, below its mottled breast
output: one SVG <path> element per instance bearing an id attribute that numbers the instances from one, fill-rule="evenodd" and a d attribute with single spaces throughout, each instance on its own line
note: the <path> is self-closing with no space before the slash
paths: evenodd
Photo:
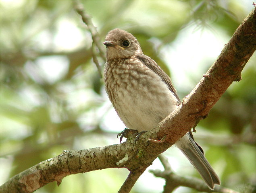
<path id="1" fill-rule="evenodd" d="M 138 86 L 131 83 L 119 89 L 115 108 L 129 129 L 147 131 L 177 108 L 177 99 L 159 76 L 147 80 L 146 85 L 143 80 L 135 81 Z"/>

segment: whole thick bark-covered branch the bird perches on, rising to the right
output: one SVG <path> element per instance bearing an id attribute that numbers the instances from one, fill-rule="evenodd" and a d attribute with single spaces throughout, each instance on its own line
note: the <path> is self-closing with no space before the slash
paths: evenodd
<path id="1" fill-rule="evenodd" d="M 175 144 L 208 114 L 233 81 L 241 79 L 241 71 L 256 49 L 255 34 L 256 8 L 237 28 L 218 59 L 179 108 L 159 123 L 158 128 L 144 133 L 136 143 L 134 138 L 128 138 L 122 144 L 64 151 L 12 177 L 0 186 L 0 192 L 33 192 L 52 181 L 59 185 L 67 175 L 92 170 L 123 167 L 137 172 L 149 166 L 158 154 Z M 164 136 L 166 140 L 162 143 L 148 142 L 148 139 L 160 140 Z"/>

